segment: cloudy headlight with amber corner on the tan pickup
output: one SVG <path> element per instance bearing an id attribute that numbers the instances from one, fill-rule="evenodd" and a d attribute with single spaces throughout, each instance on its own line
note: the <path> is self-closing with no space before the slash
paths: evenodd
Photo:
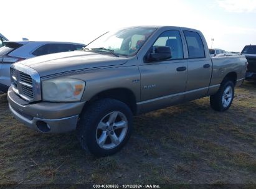
<path id="1" fill-rule="evenodd" d="M 57 78 L 42 81 L 42 99 L 52 102 L 80 101 L 85 82 L 72 78 Z"/>

